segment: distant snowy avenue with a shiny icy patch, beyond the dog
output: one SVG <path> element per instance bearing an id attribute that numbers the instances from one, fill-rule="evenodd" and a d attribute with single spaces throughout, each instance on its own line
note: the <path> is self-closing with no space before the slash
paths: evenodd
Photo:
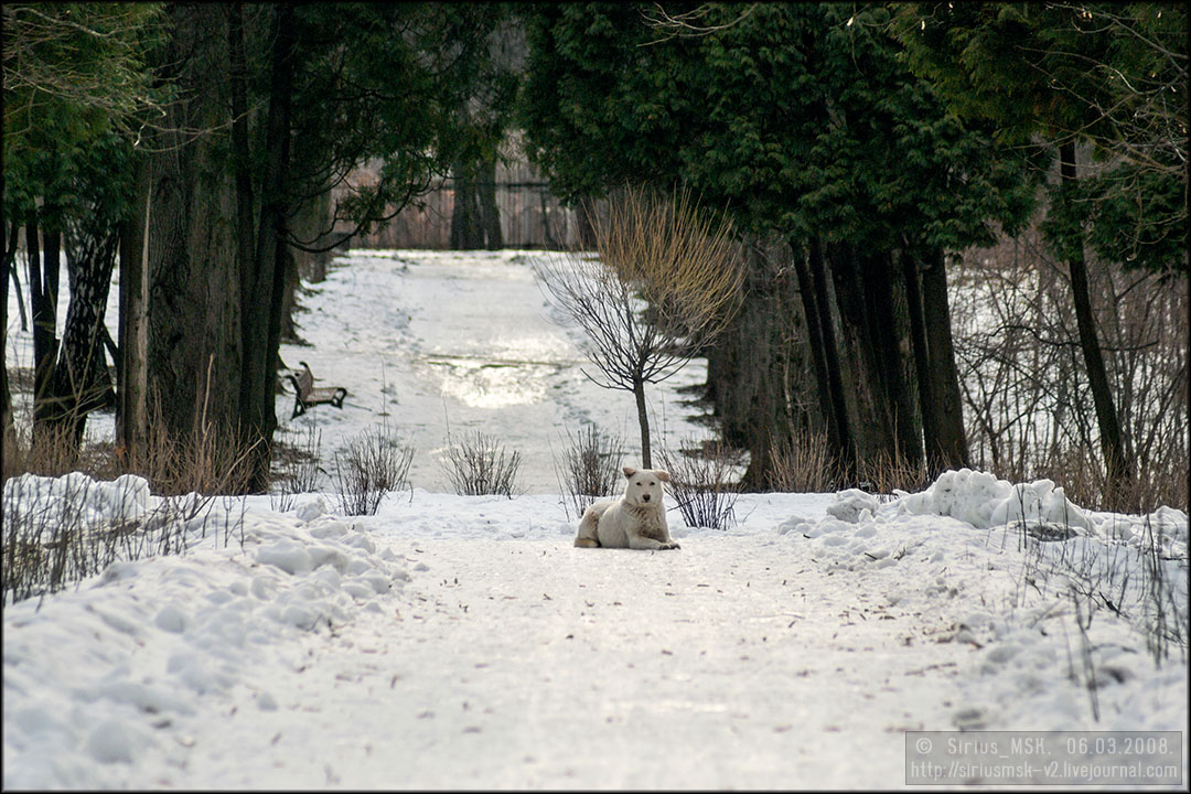
<path id="1" fill-rule="evenodd" d="M 281 360 L 305 361 L 319 386 L 344 386 L 348 398 L 342 409 L 323 405 L 289 419 L 293 396 L 279 395 L 281 438 L 303 445 L 316 429 L 332 462 L 350 438 L 384 426 L 414 446 L 410 482 L 431 490 L 450 490 L 448 434 L 457 443 L 473 430 L 520 454 L 520 493 L 559 488 L 554 455 L 568 429 L 587 423 L 619 436 L 640 459 L 632 394 L 584 374 L 597 371 L 581 352 L 581 331 L 559 321 L 534 276 L 543 256 L 551 255 L 353 250 L 336 260 L 297 317 L 310 346 L 282 345 Z M 680 389 L 705 380 L 706 360 L 697 358 L 647 386 L 653 430 L 672 446 L 710 437 L 680 405 L 691 399 Z"/>

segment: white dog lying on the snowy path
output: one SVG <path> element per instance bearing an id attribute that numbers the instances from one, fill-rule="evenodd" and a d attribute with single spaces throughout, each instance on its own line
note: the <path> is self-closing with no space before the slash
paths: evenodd
<path id="1" fill-rule="evenodd" d="M 621 499 L 596 502 L 579 521 L 575 545 L 581 549 L 678 549 L 666 526 L 660 469 L 624 467 L 628 483 Z"/>

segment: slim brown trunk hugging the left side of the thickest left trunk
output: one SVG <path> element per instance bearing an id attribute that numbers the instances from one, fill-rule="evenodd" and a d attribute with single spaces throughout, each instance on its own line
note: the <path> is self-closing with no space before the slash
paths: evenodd
<path id="1" fill-rule="evenodd" d="M 125 459 L 142 459 L 149 437 L 149 218 L 152 165 L 137 164 L 132 215 L 120 227 L 120 362 L 117 374 L 116 439 Z"/>

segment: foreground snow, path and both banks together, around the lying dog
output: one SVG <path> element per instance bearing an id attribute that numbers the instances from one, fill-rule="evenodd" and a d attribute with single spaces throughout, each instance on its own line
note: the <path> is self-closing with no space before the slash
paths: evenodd
<path id="1" fill-rule="evenodd" d="M 555 494 L 416 488 L 355 518 L 250 498 L 243 548 L 208 534 L 5 609 L 4 786 L 884 788 L 904 731 L 958 727 L 1184 731 L 1185 759 L 1184 655 L 1155 665 L 1100 609 L 1085 668 L 1036 551 L 1140 580 L 1143 546 L 1097 527 L 1147 518 L 1022 546 L 954 518 L 1004 499 L 964 479 L 744 494 L 727 531 L 668 501 L 673 552 L 574 549 Z M 1186 515 L 1161 518 L 1185 554 Z M 1185 609 L 1185 556 L 1161 564 Z"/>

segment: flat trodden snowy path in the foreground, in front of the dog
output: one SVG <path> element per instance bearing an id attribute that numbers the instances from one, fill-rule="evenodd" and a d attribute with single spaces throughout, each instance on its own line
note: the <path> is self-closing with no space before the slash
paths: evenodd
<path id="1" fill-rule="evenodd" d="M 281 707 L 205 738 L 186 784 L 899 786 L 902 732 L 953 727 L 972 646 L 934 643 L 946 617 L 773 538 L 405 545 L 428 570 L 404 604 L 310 637 Z"/>

